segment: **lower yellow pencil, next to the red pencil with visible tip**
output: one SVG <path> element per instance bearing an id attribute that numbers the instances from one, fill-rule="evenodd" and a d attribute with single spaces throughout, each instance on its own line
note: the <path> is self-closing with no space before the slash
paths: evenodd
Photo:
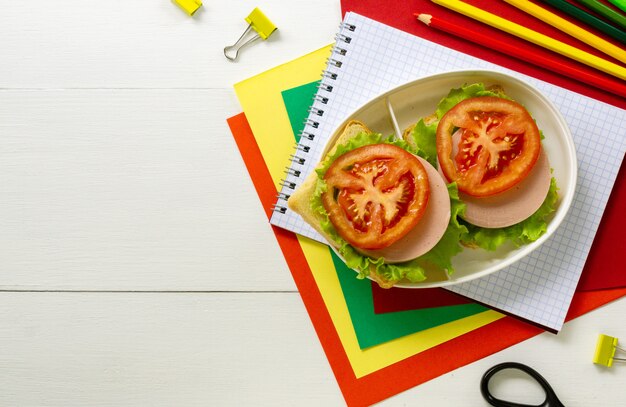
<path id="1" fill-rule="evenodd" d="M 569 44 L 557 41 L 553 38 L 548 37 L 547 35 L 543 35 L 519 24 L 515 24 L 502 17 L 498 17 L 494 14 L 488 13 L 460 0 L 431 1 L 446 8 L 449 8 L 450 10 L 454 10 L 457 13 L 461 13 L 467 17 L 478 20 L 484 24 L 515 35 L 516 37 L 520 37 L 526 41 L 530 41 L 541 47 L 557 52 L 563 56 L 581 62 L 585 65 L 591 66 L 610 75 L 626 80 L 626 68 L 614 64 L 613 62 L 607 61 L 606 59 L 599 58 L 588 52 L 582 51 L 578 48 L 572 47 Z"/>

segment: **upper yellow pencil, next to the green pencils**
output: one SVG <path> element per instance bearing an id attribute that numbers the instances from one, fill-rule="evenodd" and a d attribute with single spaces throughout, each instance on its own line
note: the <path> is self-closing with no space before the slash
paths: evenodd
<path id="1" fill-rule="evenodd" d="M 566 19 L 557 16 L 556 14 L 546 10 L 545 8 L 540 7 L 535 3 L 527 0 L 504 1 L 517 7 L 520 10 L 525 11 L 531 16 L 538 18 L 539 20 L 548 23 L 555 28 L 558 28 L 564 33 L 571 35 L 572 37 L 584 42 L 585 44 L 591 45 L 595 49 L 612 56 L 618 61 L 626 63 L 626 51 L 624 51 L 622 48 L 615 46 L 608 41 L 605 41 L 597 35 L 582 29 L 576 24 L 570 23 Z"/>

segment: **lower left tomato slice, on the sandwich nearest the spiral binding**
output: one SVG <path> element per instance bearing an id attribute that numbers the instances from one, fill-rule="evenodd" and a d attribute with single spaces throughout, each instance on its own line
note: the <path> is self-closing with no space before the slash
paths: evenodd
<path id="1" fill-rule="evenodd" d="M 428 174 L 413 154 L 391 144 L 349 151 L 330 166 L 322 203 L 337 232 L 360 249 L 382 249 L 420 220 Z"/>

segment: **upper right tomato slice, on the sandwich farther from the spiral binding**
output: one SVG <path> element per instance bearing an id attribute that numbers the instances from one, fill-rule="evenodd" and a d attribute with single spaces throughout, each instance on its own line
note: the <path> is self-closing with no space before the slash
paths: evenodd
<path id="1" fill-rule="evenodd" d="M 513 187 L 528 175 L 540 151 L 537 124 L 522 105 L 507 99 L 466 99 L 437 126 L 439 165 L 448 181 L 472 196 Z"/>

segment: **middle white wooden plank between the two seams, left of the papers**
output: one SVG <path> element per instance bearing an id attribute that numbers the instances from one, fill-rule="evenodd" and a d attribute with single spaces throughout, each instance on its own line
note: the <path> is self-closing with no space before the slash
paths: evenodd
<path id="1" fill-rule="evenodd" d="M 225 121 L 231 91 L 0 99 L 0 289 L 295 289 Z"/>

